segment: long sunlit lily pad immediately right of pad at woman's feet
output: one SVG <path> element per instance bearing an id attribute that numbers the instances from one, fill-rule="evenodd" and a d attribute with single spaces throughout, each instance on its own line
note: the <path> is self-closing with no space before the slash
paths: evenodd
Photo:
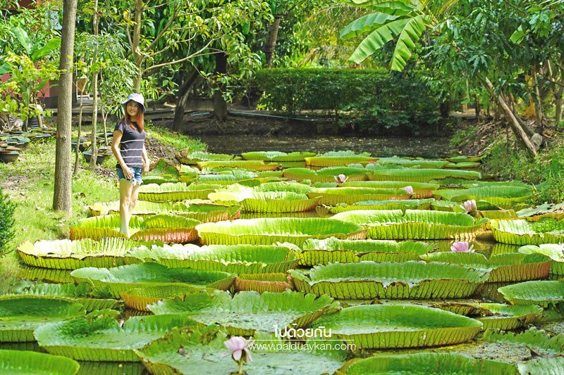
<path id="1" fill-rule="evenodd" d="M 306 239 L 364 239 L 360 225 L 332 219 L 249 219 L 235 222 L 204 223 L 196 227 L 204 245 L 248 243 L 270 245 L 289 242 L 301 246 Z"/>

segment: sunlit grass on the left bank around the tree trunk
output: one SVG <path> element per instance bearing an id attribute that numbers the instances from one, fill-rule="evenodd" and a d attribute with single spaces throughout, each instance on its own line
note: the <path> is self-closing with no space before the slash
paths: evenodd
<path id="1" fill-rule="evenodd" d="M 151 141 L 177 149 L 189 147 L 192 151 L 202 151 L 206 147 L 200 141 L 159 127 L 149 127 L 147 136 Z M 149 153 L 149 158 L 154 159 L 154 155 Z M 4 254 L 0 254 L 0 289 L 8 286 L 9 280 L 18 273 L 20 265 L 14 250 L 20 243 L 65 238 L 68 236 L 69 226 L 88 216 L 89 205 L 118 200 L 117 179 L 113 177 L 115 158 L 106 158 L 97 170 L 90 170 L 82 157 L 80 159 L 80 170 L 73 176 L 71 217 L 64 217 L 52 210 L 54 138 L 44 143 L 31 143 L 20 153 L 16 163 L 0 163 L 0 186 L 11 201 L 16 203 L 15 236 L 4 249 Z"/>

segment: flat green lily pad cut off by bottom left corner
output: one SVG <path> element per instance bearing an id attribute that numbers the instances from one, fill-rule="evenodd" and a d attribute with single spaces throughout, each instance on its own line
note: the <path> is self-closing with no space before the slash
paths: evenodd
<path id="1" fill-rule="evenodd" d="M 66 357 L 45 353 L 0 350 L 2 374 L 75 375 L 80 365 Z"/>

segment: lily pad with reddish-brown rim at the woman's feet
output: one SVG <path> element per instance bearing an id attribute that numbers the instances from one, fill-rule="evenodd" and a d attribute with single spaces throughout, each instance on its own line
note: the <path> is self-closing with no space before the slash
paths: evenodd
<path id="1" fill-rule="evenodd" d="M 177 215 L 159 214 L 147 219 L 133 216 L 129 222 L 129 239 L 186 243 L 198 238 L 194 229 L 197 224 L 200 224 L 198 220 Z M 119 215 L 88 217 L 71 227 L 71 239 L 125 238 L 125 234 L 120 231 L 120 225 Z"/>

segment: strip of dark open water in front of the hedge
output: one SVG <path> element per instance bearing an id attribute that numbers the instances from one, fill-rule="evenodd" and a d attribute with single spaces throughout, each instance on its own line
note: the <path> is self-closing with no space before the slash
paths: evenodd
<path id="1" fill-rule="evenodd" d="M 448 137 L 360 137 L 360 136 L 264 136 L 228 135 L 200 136 L 212 153 L 240 154 L 249 151 L 366 151 L 374 156 L 412 156 L 443 158 L 453 155 Z"/>

